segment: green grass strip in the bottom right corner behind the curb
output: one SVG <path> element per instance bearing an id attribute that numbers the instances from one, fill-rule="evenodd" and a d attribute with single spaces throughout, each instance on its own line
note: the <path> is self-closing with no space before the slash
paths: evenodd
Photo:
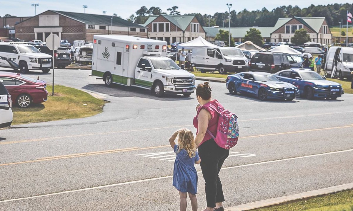
<path id="1" fill-rule="evenodd" d="M 353 211 L 353 190 L 251 211 Z"/>

